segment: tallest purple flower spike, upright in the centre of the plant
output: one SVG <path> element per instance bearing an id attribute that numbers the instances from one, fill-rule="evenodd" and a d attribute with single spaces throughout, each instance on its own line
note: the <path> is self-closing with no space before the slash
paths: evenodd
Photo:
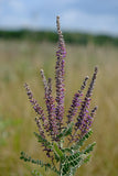
<path id="1" fill-rule="evenodd" d="M 63 124 L 63 116 L 64 116 L 64 91 L 65 91 L 65 85 L 64 85 L 64 65 L 65 61 L 64 57 L 66 56 L 66 50 L 65 50 L 65 44 L 62 35 L 62 31 L 60 28 L 60 16 L 56 19 L 56 24 L 57 24 L 57 33 L 58 33 L 58 51 L 56 52 L 57 56 L 57 62 L 55 66 L 55 80 L 56 80 L 56 119 L 58 122 L 58 130 L 61 131 L 61 127 Z"/>

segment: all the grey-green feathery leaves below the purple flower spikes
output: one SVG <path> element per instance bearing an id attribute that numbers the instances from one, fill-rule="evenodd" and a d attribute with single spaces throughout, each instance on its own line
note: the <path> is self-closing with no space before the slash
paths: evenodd
<path id="1" fill-rule="evenodd" d="M 68 136 L 71 134 L 72 128 L 73 123 L 69 124 L 66 129 L 64 129 L 58 136 L 61 139 Z M 68 147 L 61 147 L 58 146 L 58 143 L 56 142 L 51 143 L 45 139 L 42 139 L 42 136 L 39 135 L 37 133 L 34 133 L 40 143 L 43 143 L 44 145 L 46 145 L 46 147 L 51 148 L 51 151 L 54 154 L 55 163 L 60 162 L 60 168 L 55 167 L 56 164 L 52 165 L 50 163 L 44 163 L 40 160 L 33 160 L 31 158 L 31 156 L 28 156 L 24 152 L 21 152 L 20 158 L 24 160 L 24 162 L 31 162 L 33 164 L 37 164 L 41 167 L 44 167 L 45 170 L 50 168 L 51 170 L 55 172 L 58 176 L 73 176 L 76 169 L 84 163 L 87 163 L 90 158 L 89 153 L 93 151 L 96 143 L 94 142 L 92 144 L 88 144 L 85 147 L 85 150 L 81 150 L 81 147 L 84 145 L 84 142 L 92 135 L 92 133 L 93 133 L 92 130 L 89 130 L 79 141 L 77 141 L 75 144 Z"/>

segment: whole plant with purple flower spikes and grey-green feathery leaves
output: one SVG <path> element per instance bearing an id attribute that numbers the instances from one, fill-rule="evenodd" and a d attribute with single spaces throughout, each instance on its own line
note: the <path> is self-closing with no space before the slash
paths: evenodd
<path id="1" fill-rule="evenodd" d="M 45 106 L 47 113 L 45 114 L 41 105 L 33 98 L 30 87 L 25 84 L 26 94 L 32 108 L 36 112 L 35 122 L 39 133 L 34 133 L 37 142 L 41 143 L 46 156 L 51 158 L 51 163 L 44 163 L 40 160 L 33 160 L 24 152 L 21 152 L 21 160 L 37 164 L 45 169 L 50 168 L 58 176 L 73 176 L 76 169 L 84 163 L 89 161 L 90 152 L 94 148 L 95 142 L 81 150 L 84 142 L 93 133 L 90 130 L 94 114 L 97 107 L 90 110 L 92 94 L 97 76 L 97 67 L 95 67 L 88 90 L 84 96 L 88 76 L 85 77 L 81 89 L 74 95 L 72 105 L 65 113 L 64 98 L 64 66 L 66 50 L 64 38 L 60 28 L 60 16 L 56 19 L 58 33 L 58 50 L 56 52 L 55 66 L 55 87 L 56 97 L 52 94 L 52 79 L 46 80 L 43 69 L 41 69 L 41 77 L 43 79 L 45 91 Z M 66 116 L 67 114 L 67 116 Z M 65 121 L 65 122 L 64 122 Z M 40 175 L 37 170 L 33 175 Z"/>

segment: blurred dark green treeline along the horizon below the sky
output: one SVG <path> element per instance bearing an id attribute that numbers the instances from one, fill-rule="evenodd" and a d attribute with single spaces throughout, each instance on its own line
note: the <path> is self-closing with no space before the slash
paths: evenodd
<path id="1" fill-rule="evenodd" d="M 66 43 L 87 45 L 94 43 L 96 45 L 116 45 L 118 46 L 118 37 L 109 35 L 93 35 L 78 32 L 64 32 L 64 38 Z M 0 31 L 0 38 L 3 40 L 32 40 L 32 41 L 47 41 L 57 42 L 57 34 L 52 31 Z"/>

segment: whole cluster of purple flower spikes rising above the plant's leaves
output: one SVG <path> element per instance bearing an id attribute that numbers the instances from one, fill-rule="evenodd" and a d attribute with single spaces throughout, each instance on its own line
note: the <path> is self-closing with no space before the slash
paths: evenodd
<path id="1" fill-rule="evenodd" d="M 97 76 L 98 68 L 95 67 L 95 72 L 92 78 L 92 81 L 89 84 L 87 94 L 84 97 L 84 89 L 86 87 L 88 76 L 85 77 L 81 89 L 74 95 L 71 108 L 67 112 L 67 120 L 66 125 L 63 122 L 64 119 L 64 97 L 65 97 L 65 85 L 64 85 L 64 65 L 65 65 L 65 56 L 66 56 L 66 50 L 65 50 L 65 43 L 62 35 L 62 31 L 60 28 L 60 18 L 56 19 L 57 24 L 57 33 L 58 33 L 58 48 L 56 52 L 56 66 L 55 66 L 55 87 L 56 87 L 56 96 L 53 97 L 52 94 L 52 79 L 49 78 L 46 80 L 43 69 L 41 69 L 41 77 L 43 79 L 44 85 L 44 99 L 45 99 L 45 106 L 46 106 L 46 112 L 47 116 L 45 117 L 44 111 L 42 107 L 37 103 L 37 101 L 33 98 L 33 95 L 29 88 L 29 86 L 25 84 L 24 87 L 26 89 L 28 97 L 30 99 L 30 102 L 32 103 L 32 107 L 34 111 L 37 114 L 37 118 L 35 118 L 35 122 L 39 128 L 40 135 L 42 139 L 46 139 L 46 135 L 50 135 L 51 141 L 58 142 L 58 146 L 61 147 L 61 132 L 63 129 L 66 129 L 71 122 L 75 122 L 74 118 L 77 114 L 76 122 L 74 125 L 74 132 L 72 133 L 71 138 L 68 138 L 69 142 L 78 141 L 83 135 L 86 134 L 86 132 L 89 130 L 94 114 L 97 110 L 97 107 L 95 107 L 92 112 L 89 113 L 89 106 L 92 101 L 92 94 Z M 44 146 L 44 151 L 46 151 L 46 155 L 49 157 L 51 156 L 52 150 L 42 143 L 42 146 Z M 52 157 L 53 158 L 53 157 Z"/>

